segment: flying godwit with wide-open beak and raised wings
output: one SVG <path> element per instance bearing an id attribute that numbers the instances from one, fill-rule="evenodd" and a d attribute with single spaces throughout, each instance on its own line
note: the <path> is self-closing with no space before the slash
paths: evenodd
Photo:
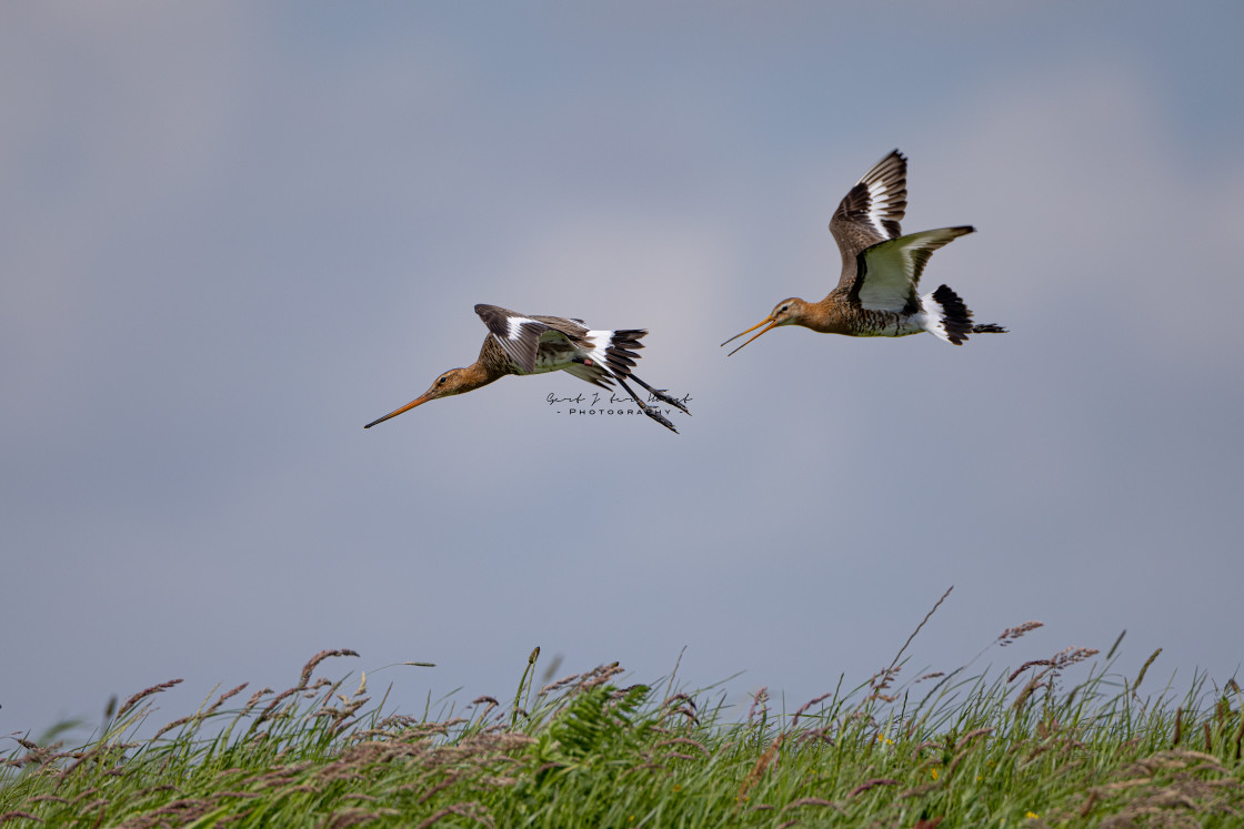
<path id="1" fill-rule="evenodd" d="M 974 324 L 968 306 L 944 285 L 933 293 L 916 293 L 933 251 L 975 227 L 942 227 L 903 236 L 898 222 L 906 209 L 907 159 L 896 149 L 865 173 L 830 220 L 830 232 L 842 252 L 837 287 L 820 302 L 782 300 L 761 322 L 722 344 L 761 326 L 765 328 L 760 334 L 779 326 L 804 326 L 847 337 L 906 337 L 927 331 L 955 346 L 962 346 L 968 334 L 1006 333 L 1001 326 Z"/>

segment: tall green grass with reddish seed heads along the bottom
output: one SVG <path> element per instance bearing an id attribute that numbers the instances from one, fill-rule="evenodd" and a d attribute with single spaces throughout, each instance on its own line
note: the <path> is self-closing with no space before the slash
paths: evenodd
<path id="1" fill-rule="evenodd" d="M 151 737 L 136 735 L 152 733 L 172 684 L 124 701 L 80 747 L 17 740 L 0 759 L 0 823 L 1244 825 L 1234 680 L 1142 697 L 1153 657 L 1121 677 L 1113 653 L 1086 649 L 996 676 L 904 677 L 903 650 L 795 712 L 760 691 L 745 716 L 674 677 L 622 686 L 617 664 L 540 687 L 539 649 L 513 697 L 409 716 L 386 711 L 366 674 L 317 676 L 323 660 L 356 655 L 323 651 L 280 694 L 214 691 Z"/>

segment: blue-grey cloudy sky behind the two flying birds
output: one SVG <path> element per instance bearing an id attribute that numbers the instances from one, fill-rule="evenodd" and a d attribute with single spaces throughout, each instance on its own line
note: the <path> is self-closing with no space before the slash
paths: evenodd
<path id="1" fill-rule="evenodd" d="M 527 653 L 792 707 L 909 654 L 1244 659 L 1237 4 L 5 4 L 0 733 L 185 677 Z M 718 344 L 838 273 L 892 148 L 1005 337 Z M 646 327 L 673 435 L 474 359 Z M 1153 676 L 1154 674 L 1151 674 Z M 382 675 L 383 676 L 383 675 Z M 180 696 L 177 696 L 180 695 Z"/>

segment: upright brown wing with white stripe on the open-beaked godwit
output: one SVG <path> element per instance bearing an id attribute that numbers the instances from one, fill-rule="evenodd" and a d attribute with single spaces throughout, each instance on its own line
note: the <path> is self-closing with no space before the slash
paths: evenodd
<path id="1" fill-rule="evenodd" d="M 843 261 L 887 239 L 898 239 L 907 213 L 907 158 L 897 149 L 873 164 L 830 219 Z"/>

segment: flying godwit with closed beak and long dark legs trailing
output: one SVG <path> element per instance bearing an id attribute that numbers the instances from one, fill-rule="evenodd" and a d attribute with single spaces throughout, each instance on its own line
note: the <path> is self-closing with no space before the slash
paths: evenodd
<path id="1" fill-rule="evenodd" d="M 687 411 L 682 400 L 666 394 L 664 389 L 652 388 L 631 370 L 639 359 L 636 350 L 643 348 L 639 339 L 647 331 L 588 331 L 582 319 L 527 317 L 491 305 L 475 306 L 475 313 L 488 326 L 488 337 L 479 350 L 479 359 L 466 368 L 452 368 L 443 373 L 430 389 L 363 429 L 371 429 L 428 400 L 474 392 L 506 374 L 562 370 L 605 389 L 612 388 L 613 380 L 617 380 L 646 415 L 666 429 L 678 431 L 656 406 L 647 405 L 626 383 L 634 380 L 657 400 Z"/>

